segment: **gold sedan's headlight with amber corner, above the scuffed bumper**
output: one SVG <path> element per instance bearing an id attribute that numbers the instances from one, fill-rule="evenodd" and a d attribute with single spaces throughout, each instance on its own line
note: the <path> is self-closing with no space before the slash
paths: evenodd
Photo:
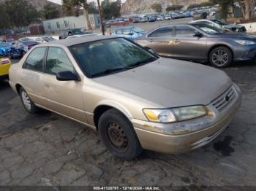
<path id="1" fill-rule="evenodd" d="M 186 106 L 174 109 L 143 109 L 151 122 L 178 122 L 202 117 L 207 114 L 204 106 Z"/>

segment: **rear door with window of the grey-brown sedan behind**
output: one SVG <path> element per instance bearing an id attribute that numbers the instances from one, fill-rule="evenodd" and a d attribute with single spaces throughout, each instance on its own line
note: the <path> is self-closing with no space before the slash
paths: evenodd
<path id="1" fill-rule="evenodd" d="M 173 57 L 174 50 L 174 36 L 173 26 L 166 26 L 158 28 L 151 34 L 148 34 L 146 47 L 156 52 L 158 55 Z"/>

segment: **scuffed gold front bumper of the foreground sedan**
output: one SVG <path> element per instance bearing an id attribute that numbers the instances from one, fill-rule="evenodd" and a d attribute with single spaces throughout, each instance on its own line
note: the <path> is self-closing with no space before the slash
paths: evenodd
<path id="1" fill-rule="evenodd" d="M 222 112 L 218 112 L 211 104 L 207 106 L 214 112 L 210 117 L 164 125 L 140 120 L 132 120 L 132 123 L 143 149 L 179 154 L 202 147 L 219 136 L 240 105 L 241 92 L 236 87 L 236 98 Z"/>

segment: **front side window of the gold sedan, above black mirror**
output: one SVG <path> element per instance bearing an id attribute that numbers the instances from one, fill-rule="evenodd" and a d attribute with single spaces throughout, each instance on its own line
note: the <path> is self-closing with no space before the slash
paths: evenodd
<path id="1" fill-rule="evenodd" d="M 56 74 L 61 71 L 75 72 L 67 54 L 59 47 L 49 47 L 46 60 L 46 72 Z"/>

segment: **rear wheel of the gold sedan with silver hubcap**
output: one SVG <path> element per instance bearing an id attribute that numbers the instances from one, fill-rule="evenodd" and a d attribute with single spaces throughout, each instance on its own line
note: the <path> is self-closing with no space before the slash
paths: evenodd
<path id="1" fill-rule="evenodd" d="M 26 93 L 26 90 L 24 90 L 23 87 L 20 87 L 19 94 L 20 94 L 21 102 L 27 112 L 29 112 L 30 114 L 35 114 L 39 111 L 39 108 L 35 106 L 33 101 L 31 101 L 28 93 Z"/>

